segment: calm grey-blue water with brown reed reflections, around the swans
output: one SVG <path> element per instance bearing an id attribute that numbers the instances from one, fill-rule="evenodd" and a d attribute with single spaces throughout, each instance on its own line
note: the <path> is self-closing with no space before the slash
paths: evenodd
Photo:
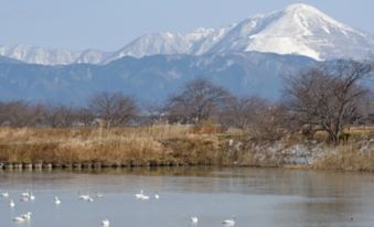
<path id="1" fill-rule="evenodd" d="M 101 173 L 0 172 L 0 227 L 374 226 L 374 174 L 278 169 L 137 169 Z M 33 202 L 20 202 L 30 190 Z M 137 201 L 143 190 L 149 201 Z M 93 203 L 78 193 L 104 194 Z M 154 193 L 160 199 L 154 199 Z M 54 196 L 62 201 L 60 206 Z M 13 217 L 32 212 L 30 223 Z"/>

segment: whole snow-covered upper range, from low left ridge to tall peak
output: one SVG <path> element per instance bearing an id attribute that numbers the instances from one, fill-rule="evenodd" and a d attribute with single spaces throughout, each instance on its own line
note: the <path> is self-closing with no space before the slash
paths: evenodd
<path id="1" fill-rule="evenodd" d="M 124 56 L 156 54 L 203 55 L 225 52 L 297 54 L 318 61 L 374 58 L 374 36 L 338 22 L 308 4 L 248 18 L 220 29 L 196 29 L 186 34 L 160 32 L 140 36 L 116 52 L 0 46 L 0 55 L 43 65 L 107 64 Z"/>

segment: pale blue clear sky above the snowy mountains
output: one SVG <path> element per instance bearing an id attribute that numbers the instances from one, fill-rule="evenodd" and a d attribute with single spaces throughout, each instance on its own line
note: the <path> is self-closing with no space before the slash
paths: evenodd
<path id="1" fill-rule="evenodd" d="M 0 0 L 0 44 L 114 51 L 146 33 L 217 28 L 297 2 L 374 34 L 372 0 Z"/>

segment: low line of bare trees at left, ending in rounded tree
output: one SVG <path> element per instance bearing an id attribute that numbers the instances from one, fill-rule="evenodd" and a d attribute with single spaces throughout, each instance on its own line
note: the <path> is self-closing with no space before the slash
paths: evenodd
<path id="1" fill-rule="evenodd" d="M 7 127 L 119 127 L 129 125 L 139 114 L 135 99 L 121 93 L 95 94 L 86 107 L 0 102 L 0 125 Z"/>

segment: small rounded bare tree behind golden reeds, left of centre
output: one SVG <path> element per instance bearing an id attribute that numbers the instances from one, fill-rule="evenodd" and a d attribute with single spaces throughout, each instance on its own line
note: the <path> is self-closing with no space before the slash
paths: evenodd
<path id="1" fill-rule="evenodd" d="M 89 100 L 93 114 L 105 120 L 107 127 L 128 123 L 138 112 L 133 98 L 121 93 L 98 93 Z"/>

